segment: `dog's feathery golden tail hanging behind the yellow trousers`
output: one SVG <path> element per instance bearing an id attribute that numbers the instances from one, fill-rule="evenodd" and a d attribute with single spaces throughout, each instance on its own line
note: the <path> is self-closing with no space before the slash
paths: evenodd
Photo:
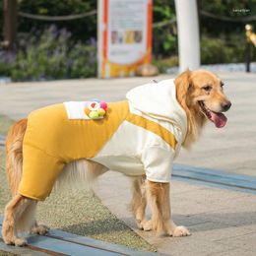
<path id="1" fill-rule="evenodd" d="M 27 128 L 27 119 L 15 123 L 6 139 L 6 173 L 12 195 L 16 195 L 22 178 L 23 139 Z"/>

